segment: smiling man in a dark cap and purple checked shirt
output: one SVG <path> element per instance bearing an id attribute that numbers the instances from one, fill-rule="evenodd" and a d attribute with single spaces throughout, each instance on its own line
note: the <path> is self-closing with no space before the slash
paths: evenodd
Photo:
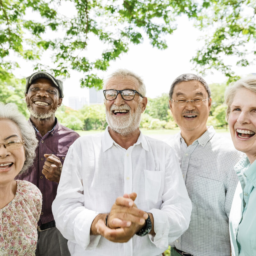
<path id="1" fill-rule="evenodd" d="M 32 167 L 17 178 L 32 182 L 43 195 L 35 255 L 70 255 L 67 240 L 55 227 L 51 206 L 69 146 L 79 134 L 59 124 L 55 117 L 64 97 L 61 80 L 44 71 L 35 72 L 26 78 L 25 96 L 29 121 L 34 126 L 39 145 Z"/>

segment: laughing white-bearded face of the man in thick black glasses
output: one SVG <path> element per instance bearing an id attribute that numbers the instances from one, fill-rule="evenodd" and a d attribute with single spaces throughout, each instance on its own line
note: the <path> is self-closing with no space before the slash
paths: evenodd
<path id="1" fill-rule="evenodd" d="M 110 79 L 105 89 L 139 91 L 138 87 L 138 81 L 134 77 L 127 76 Z M 137 93 L 135 93 L 133 100 L 124 100 L 121 94 L 118 94 L 114 100 L 105 100 L 106 120 L 110 129 L 122 136 L 139 129 L 141 113 L 145 110 L 146 105 L 147 98 L 141 98 Z"/>

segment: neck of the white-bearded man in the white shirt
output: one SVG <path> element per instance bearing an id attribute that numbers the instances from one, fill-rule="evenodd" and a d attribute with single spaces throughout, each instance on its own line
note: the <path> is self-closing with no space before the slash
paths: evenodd
<path id="1" fill-rule="evenodd" d="M 139 127 L 126 136 L 122 136 L 121 134 L 114 132 L 111 128 L 109 128 L 109 135 L 118 145 L 127 150 L 129 147 L 137 142 L 139 138 Z"/>

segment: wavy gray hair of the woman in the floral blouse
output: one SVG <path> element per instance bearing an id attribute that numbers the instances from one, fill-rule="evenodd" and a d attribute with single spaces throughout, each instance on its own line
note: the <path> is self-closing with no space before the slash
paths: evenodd
<path id="1" fill-rule="evenodd" d="M 25 141 L 25 162 L 19 174 L 24 173 L 33 164 L 35 149 L 38 141 L 35 137 L 35 130 L 26 118 L 18 111 L 14 103 L 3 104 L 0 102 L 0 120 L 13 121 L 20 130 L 21 139 Z M 1 132 L 1 131 L 0 131 Z"/>

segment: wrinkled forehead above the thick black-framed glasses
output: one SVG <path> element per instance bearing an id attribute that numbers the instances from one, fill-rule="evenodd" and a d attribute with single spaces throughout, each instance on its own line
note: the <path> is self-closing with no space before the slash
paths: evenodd
<path id="1" fill-rule="evenodd" d="M 105 90 L 115 89 L 115 90 L 124 90 L 124 89 L 132 89 L 138 90 L 139 81 L 132 76 L 117 76 L 110 78 L 104 87 Z"/>

